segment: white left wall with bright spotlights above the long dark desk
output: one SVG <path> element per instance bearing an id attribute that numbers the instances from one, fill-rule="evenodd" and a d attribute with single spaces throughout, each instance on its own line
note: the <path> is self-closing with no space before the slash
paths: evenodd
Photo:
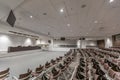
<path id="1" fill-rule="evenodd" d="M 36 40 L 33 38 L 27 38 L 25 36 L 20 36 L 20 35 L 14 35 L 10 34 L 9 31 L 16 31 L 24 34 L 30 34 L 30 35 L 35 35 L 39 36 L 40 40 Z M 40 35 L 40 34 L 35 34 L 30 31 L 26 31 L 23 29 L 17 28 L 15 26 L 14 28 L 8 25 L 6 22 L 1 22 L 0 21 L 0 53 L 3 51 L 7 51 L 9 46 L 33 46 L 33 45 L 39 45 L 46 43 L 49 39 L 51 39 L 48 36 Z"/>

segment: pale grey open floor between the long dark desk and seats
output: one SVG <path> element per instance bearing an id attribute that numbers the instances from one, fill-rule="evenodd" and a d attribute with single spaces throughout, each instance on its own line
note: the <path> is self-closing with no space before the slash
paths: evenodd
<path id="1" fill-rule="evenodd" d="M 27 55 L 0 58 L 0 70 L 10 67 L 10 75 L 18 76 L 18 74 L 26 72 L 28 68 L 34 70 L 40 64 L 45 64 L 46 61 L 63 56 L 65 53 L 49 51 L 34 51 L 33 53 L 32 51 Z"/>

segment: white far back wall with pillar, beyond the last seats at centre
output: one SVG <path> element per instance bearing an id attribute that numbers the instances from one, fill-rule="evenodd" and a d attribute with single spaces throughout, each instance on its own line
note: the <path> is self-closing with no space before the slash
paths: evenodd
<path id="1" fill-rule="evenodd" d="M 53 51 L 68 51 L 71 48 L 76 48 L 76 47 L 59 47 L 59 45 L 77 45 L 77 48 L 86 48 L 86 46 L 97 46 L 97 42 L 94 40 L 84 40 L 82 41 L 82 45 L 81 45 L 81 41 L 80 40 L 66 40 L 66 41 L 61 41 L 61 40 L 54 40 L 51 47 Z"/>

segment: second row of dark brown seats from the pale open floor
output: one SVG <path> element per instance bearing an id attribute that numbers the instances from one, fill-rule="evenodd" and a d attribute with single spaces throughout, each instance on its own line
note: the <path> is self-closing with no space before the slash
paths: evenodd
<path id="1" fill-rule="evenodd" d="M 76 54 L 65 54 L 65 59 L 54 66 L 51 70 L 39 76 L 37 80 L 60 80 L 60 76 L 69 68 L 69 65 L 74 61 Z"/>

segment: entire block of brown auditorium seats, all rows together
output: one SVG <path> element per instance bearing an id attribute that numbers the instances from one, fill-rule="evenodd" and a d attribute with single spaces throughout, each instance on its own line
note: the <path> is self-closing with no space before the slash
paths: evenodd
<path id="1" fill-rule="evenodd" d="M 79 53 L 79 56 L 78 54 Z M 77 56 L 77 57 L 76 57 Z M 24 74 L 20 74 L 16 80 L 68 80 L 61 76 L 68 75 L 69 66 L 78 58 L 78 66 L 73 80 L 120 80 L 120 67 L 118 64 L 119 55 L 101 49 L 71 49 L 63 57 L 51 59 L 45 65 L 39 65 L 33 72 L 28 69 Z M 72 73 L 72 72 L 70 72 Z M 8 77 L 9 68 L 0 72 L 0 79 Z M 72 76 L 72 75 L 69 75 Z M 15 79 L 14 78 L 14 79 Z"/>

